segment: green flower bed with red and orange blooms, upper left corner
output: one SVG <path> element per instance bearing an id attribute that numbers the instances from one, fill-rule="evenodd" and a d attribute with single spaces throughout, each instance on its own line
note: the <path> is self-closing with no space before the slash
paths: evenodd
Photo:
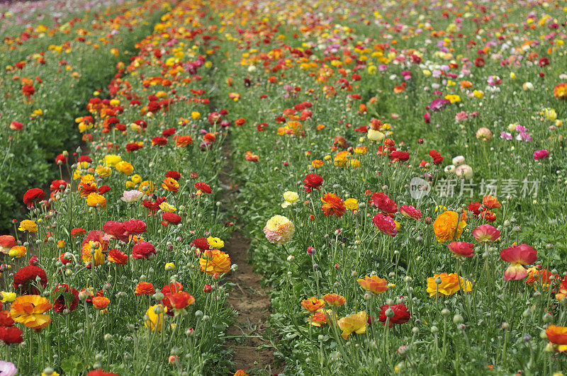
<path id="1" fill-rule="evenodd" d="M 55 5 L 47 5 L 52 11 L 57 4 L 65 4 L 52 2 Z M 92 93 L 112 78 L 116 64 L 128 62 L 128 51 L 169 6 L 164 1 L 107 2 L 97 4 L 101 13 L 95 12 L 95 6 L 93 13 L 79 18 L 82 5 L 88 3 L 67 4 L 60 9 L 66 22 L 47 26 L 37 14 L 45 4 L 35 4 L 22 5 L 23 10 L 9 16 L 4 13 L 2 21 L 3 27 L 9 26 L 0 45 L 4 63 L 0 72 L 1 229 L 20 217 L 18 201 L 26 188 L 45 184 L 56 171 L 52 166 L 57 154 L 69 144 L 78 144 L 73 119 L 84 111 Z M 26 20 L 24 10 L 29 8 L 38 16 L 29 26 L 32 30 L 11 23 Z"/>

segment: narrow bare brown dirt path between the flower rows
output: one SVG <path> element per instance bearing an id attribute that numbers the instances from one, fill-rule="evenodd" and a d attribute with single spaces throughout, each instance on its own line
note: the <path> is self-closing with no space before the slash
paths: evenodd
<path id="1" fill-rule="evenodd" d="M 225 212 L 235 213 L 237 187 L 230 177 L 232 173 L 230 139 L 225 141 L 223 154 L 228 159 L 219 177 L 224 189 L 223 207 Z M 237 227 L 242 225 L 236 214 L 230 215 L 230 220 Z M 240 230 L 233 232 L 232 237 L 225 242 L 225 249 L 230 254 L 231 262 L 238 266 L 236 273 L 231 272 L 228 275 L 228 280 L 234 283 L 235 287 L 230 291 L 227 302 L 237 314 L 235 324 L 228 328 L 225 348 L 234 351 L 234 371 L 243 369 L 250 375 L 274 375 L 280 370 L 274 365 L 274 344 L 269 339 L 263 338 L 268 326 L 271 304 L 269 295 L 259 283 L 262 276 L 254 273 L 254 269 L 248 263 L 249 248 L 250 239 Z"/>

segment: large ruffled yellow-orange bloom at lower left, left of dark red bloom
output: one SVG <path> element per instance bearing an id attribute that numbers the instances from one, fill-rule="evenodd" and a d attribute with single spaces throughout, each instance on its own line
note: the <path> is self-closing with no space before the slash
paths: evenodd
<path id="1" fill-rule="evenodd" d="M 52 308 L 49 300 L 40 295 L 22 295 L 10 306 L 13 321 L 19 322 L 31 329 L 42 329 L 49 325 L 51 317 L 45 312 Z"/>

